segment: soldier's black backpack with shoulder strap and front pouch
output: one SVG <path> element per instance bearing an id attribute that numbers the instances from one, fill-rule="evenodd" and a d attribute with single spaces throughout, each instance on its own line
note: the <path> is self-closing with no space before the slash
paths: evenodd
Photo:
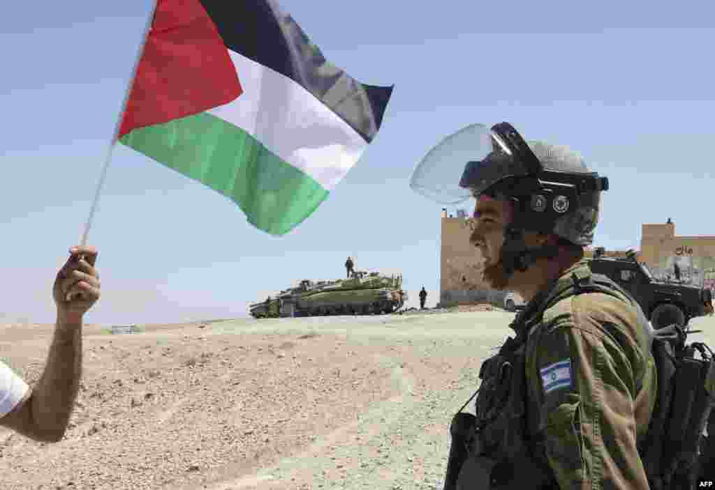
<path id="1" fill-rule="evenodd" d="M 535 325 L 541 322 L 543 312 L 556 302 L 588 292 L 601 292 L 621 301 L 626 297 L 631 305 L 638 307 L 641 323 L 649 329 L 651 335 L 651 352 L 656 364 L 658 391 L 649 429 L 638 446 L 638 454 L 644 463 L 651 489 L 695 489 L 699 472 L 702 476 L 699 459 L 715 458 L 715 454 L 701 456 L 701 445 L 704 446 L 706 442 L 702 434 L 715 399 L 715 356 L 703 343 L 686 344 L 687 335 L 695 331 L 684 330 L 684 327 L 679 325 L 653 330 L 631 294 L 608 277 L 598 274 L 574 274 L 568 287 L 551 292 L 551 295 L 545 301 L 538 302 L 538 305 L 532 302 L 516 317 L 511 327 L 520 333 L 516 340 L 508 339 L 507 344 L 511 341 L 511 349 L 516 350 L 517 344 L 526 343 L 528 335 L 524 332 L 528 331 L 528 326 L 523 324 L 522 319 L 534 317 L 536 320 L 530 322 L 530 325 Z M 696 353 L 700 354 L 700 359 L 696 358 Z M 461 466 L 468 457 L 468 446 L 475 434 L 476 418 L 472 414 L 463 413 L 462 410 L 476 394 L 455 414 L 450 425 L 452 443 L 445 490 L 455 488 Z M 715 415 L 715 412 L 713 414 Z M 715 427 L 715 424 L 711 427 Z M 708 442 L 713 443 L 708 444 L 708 447 L 715 451 L 715 434 Z"/>

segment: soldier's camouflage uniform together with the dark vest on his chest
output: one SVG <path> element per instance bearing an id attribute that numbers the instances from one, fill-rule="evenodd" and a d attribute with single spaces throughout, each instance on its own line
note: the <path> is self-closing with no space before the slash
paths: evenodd
<path id="1" fill-rule="evenodd" d="M 618 292 L 553 302 L 559 292 L 573 290 L 574 277 L 590 276 L 586 261 L 568 268 L 513 324 L 517 333 L 523 330 L 518 338 L 527 336 L 518 349 L 523 363 L 513 363 L 523 369 L 521 382 L 516 372 L 502 377 L 499 364 L 494 377 L 495 358 L 483 363 L 476 414 L 486 426 L 456 489 L 649 489 L 638 444 L 656 402 L 650 325 Z M 543 310 L 545 303 L 551 306 Z M 522 382 L 523 390 L 514 389 Z M 500 391 L 508 399 L 493 394 Z M 500 467 L 505 459 L 506 471 Z"/>

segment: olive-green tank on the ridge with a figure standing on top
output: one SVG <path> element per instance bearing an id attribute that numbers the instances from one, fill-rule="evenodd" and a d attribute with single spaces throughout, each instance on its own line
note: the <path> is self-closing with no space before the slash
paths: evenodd
<path id="1" fill-rule="evenodd" d="M 249 306 L 254 318 L 319 315 L 382 315 L 400 310 L 407 301 L 402 275 L 353 272 L 349 279 L 302 280 L 295 287 Z"/>

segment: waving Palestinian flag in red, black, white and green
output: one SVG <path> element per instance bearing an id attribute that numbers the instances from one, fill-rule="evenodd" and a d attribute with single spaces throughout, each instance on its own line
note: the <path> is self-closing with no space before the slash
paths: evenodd
<path id="1" fill-rule="evenodd" d="M 392 90 L 332 66 L 273 0 L 158 0 L 119 141 L 282 235 L 360 158 Z"/>

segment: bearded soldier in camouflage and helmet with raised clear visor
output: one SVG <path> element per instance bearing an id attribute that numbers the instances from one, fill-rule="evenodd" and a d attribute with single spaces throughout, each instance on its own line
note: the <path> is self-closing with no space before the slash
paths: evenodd
<path id="1" fill-rule="evenodd" d="M 638 445 L 656 399 L 651 327 L 612 282 L 591 292 L 583 260 L 608 180 L 508 123 L 446 138 L 415 175 L 435 175 L 423 167 L 437 161 L 441 187 L 413 189 L 450 193 L 443 203 L 474 198 L 470 243 L 485 281 L 528 302 L 511 325 L 516 338 L 481 367 L 476 416 L 455 416 L 445 489 L 649 489 Z"/>

